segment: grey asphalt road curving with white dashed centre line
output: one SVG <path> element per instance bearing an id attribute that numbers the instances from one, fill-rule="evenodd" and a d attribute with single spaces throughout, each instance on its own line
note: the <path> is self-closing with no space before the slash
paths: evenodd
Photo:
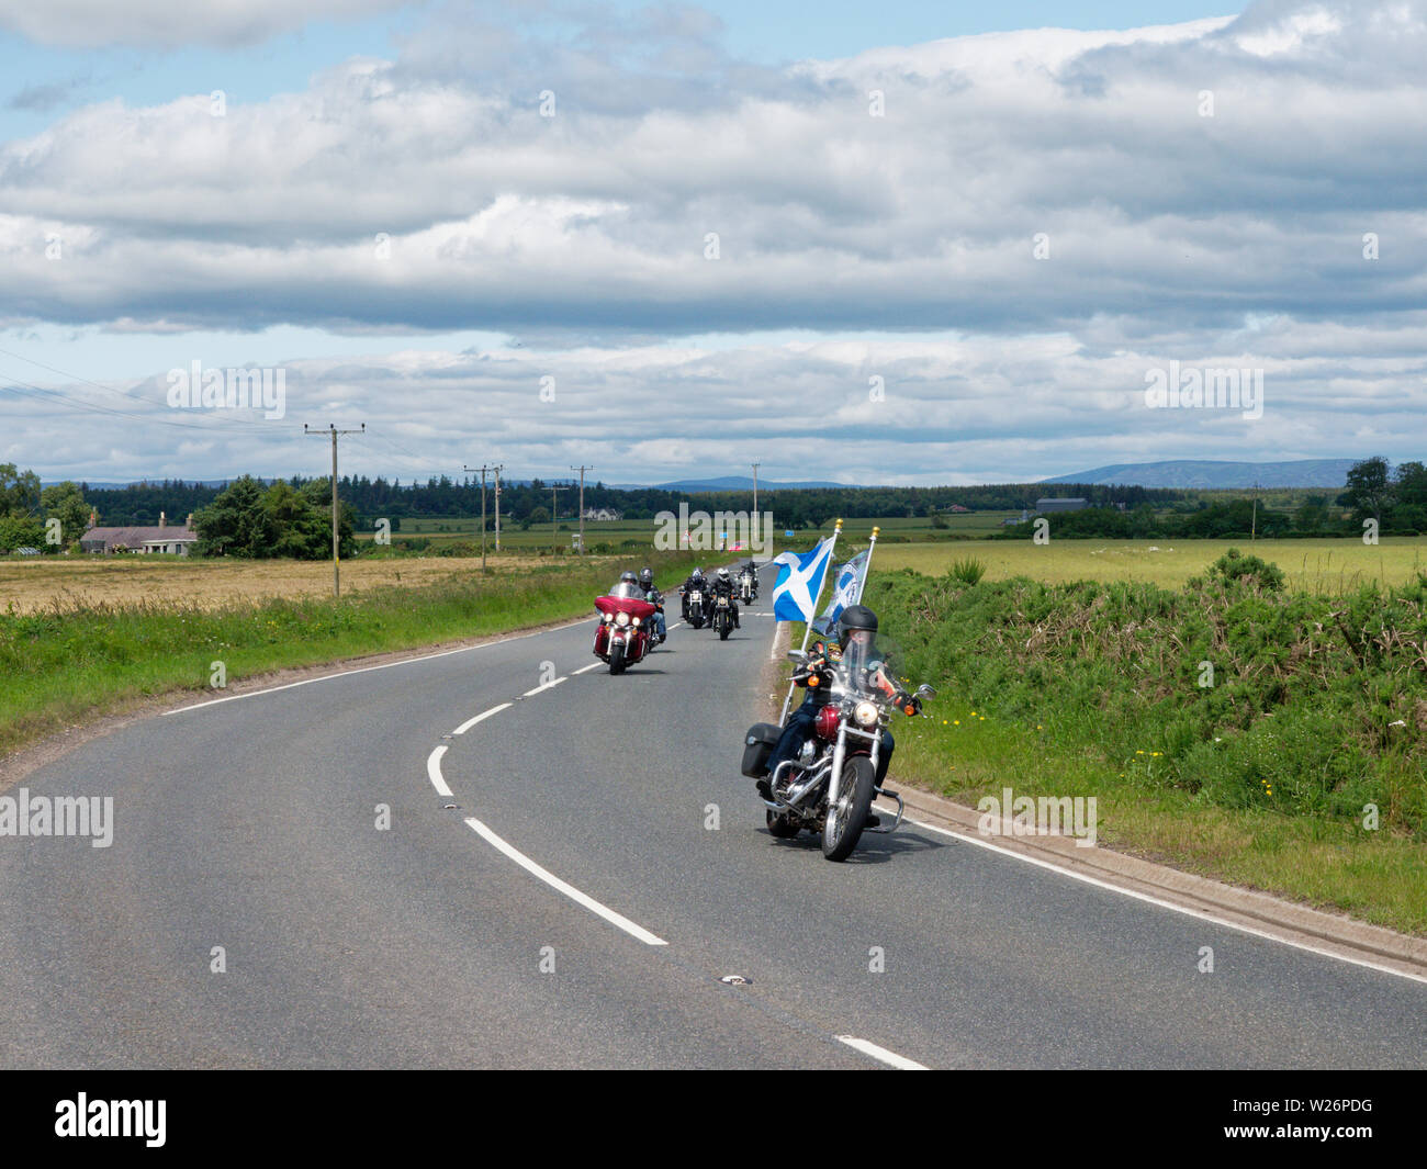
<path id="1" fill-rule="evenodd" d="M 113 796 L 114 839 L 0 838 L 0 1065 L 1424 1063 L 1427 985 L 929 828 L 773 839 L 738 774 L 763 605 L 619 678 L 588 619 L 36 771 Z"/>

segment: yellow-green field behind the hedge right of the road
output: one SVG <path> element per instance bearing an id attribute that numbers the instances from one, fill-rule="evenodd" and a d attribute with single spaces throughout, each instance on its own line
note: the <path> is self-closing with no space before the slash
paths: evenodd
<path id="1" fill-rule="evenodd" d="M 963 540 L 939 544 L 879 544 L 879 568 L 912 568 L 930 577 L 972 557 L 986 565 L 986 580 L 1030 577 L 1046 584 L 1067 581 L 1147 581 L 1177 588 L 1203 575 L 1227 548 L 1253 552 L 1277 564 L 1289 588 L 1343 592 L 1367 581 L 1403 584 L 1427 572 L 1427 537 L 1388 537 L 1377 545 L 1360 540 Z"/>

